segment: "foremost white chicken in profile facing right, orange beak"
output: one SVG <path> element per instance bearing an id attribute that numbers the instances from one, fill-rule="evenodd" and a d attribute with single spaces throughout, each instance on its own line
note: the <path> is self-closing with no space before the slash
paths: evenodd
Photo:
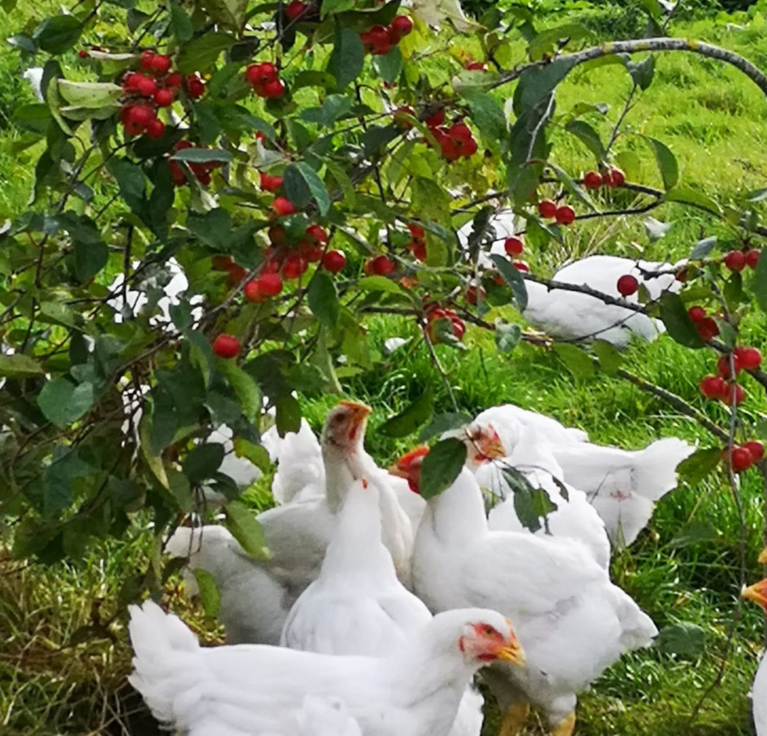
<path id="1" fill-rule="evenodd" d="M 130 606 L 129 629 L 131 684 L 155 718 L 186 736 L 288 734 L 306 695 L 340 698 L 364 736 L 445 736 L 479 668 L 524 662 L 509 621 L 483 609 L 435 616 L 382 658 L 203 648 L 151 601 Z"/>

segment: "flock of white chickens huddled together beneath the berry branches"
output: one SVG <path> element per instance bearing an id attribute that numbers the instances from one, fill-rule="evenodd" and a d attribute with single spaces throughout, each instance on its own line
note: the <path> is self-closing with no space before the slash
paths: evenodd
<path id="1" fill-rule="evenodd" d="M 176 530 L 166 549 L 216 579 L 230 643 L 202 648 L 176 616 L 133 606 L 130 681 L 158 720 L 192 736 L 479 736 L 482 668 L 502 736 L 531 707 L 569 736 L 577 694 L 657 633 L 611 583 L 610 540 L 634 540 L 693 448 L 600 447 L 508 404 L 448 433 L 466 465 L 424 500 L 429 450 L 377 467 L 369 414 L 342 401 L 320 441 L 305 422 L 265 434 L 280 504 L 258 515 L 270 559 L 223 526 Z M 522 526 L 509 467 L 556 504 L 550 533 Z"/>

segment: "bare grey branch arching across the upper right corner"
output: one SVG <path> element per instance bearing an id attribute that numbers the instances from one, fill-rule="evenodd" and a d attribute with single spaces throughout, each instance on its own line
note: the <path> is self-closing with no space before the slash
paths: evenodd
<path id="1" fill-rule="evenodd" d="M 599 46 L 586 48 L 584 51 L 577 51 L 574 54 L 562 54 L 557 57 L 557 61 L 567 60 L 570 62 L 572 68 L 578 66 L 578 64 L 584 64 L 586 61 L 592 61 L 593 59 L 602 58 L 604 56 L 612 56 L 614 54 L 638 54 L 643 51 L 689 51 L 693 54 L 700 54 L 701 56 L 717 59 L 718 61 L 724 61 L 726 64 L 730 64 L 738 71 L 746 74 L 746 77 L 759 87 L 765 94 L 765 97 L 767 97 L 767 75 L 763 74 L 755 64 L 752 64 L 748 59 L 743 58 L 733 51 L 727 51 L 725 48 L 706 44 L 703 41 L 696 41 L 693 38 L 661 37 L 637 38 L 633 41 L 610 41 Z M 490 85 L 490 88 L 500 87 L 502 84 L 514 81 L 528 69 L 543 68 L 551 63 L 553 63 L 551 60 L 535 61 L 532 64 L 525 64 L 516 69 L 506 71 L 501 74 L 498 81 Z"/>

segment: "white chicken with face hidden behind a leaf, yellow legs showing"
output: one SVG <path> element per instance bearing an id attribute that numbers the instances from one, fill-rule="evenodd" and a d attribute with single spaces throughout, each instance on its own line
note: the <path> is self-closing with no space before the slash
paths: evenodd
<path id="1" fill-rule="evenodd" d="M 426 453 L 419 448 L 407 454 L 397 472 L 418 484 Z M 426 503 L 413 550 L 413 583 L 432 611 L 493 606 L 515 621 L 527 666 L 486 672 L 506 712 L 504 736 L 522 728 L 529 705 L 552 734 L 570 736 L 577 693 L 657 633 L 581 544 L 489 530 L 482 493 L 466 468 Z"/>

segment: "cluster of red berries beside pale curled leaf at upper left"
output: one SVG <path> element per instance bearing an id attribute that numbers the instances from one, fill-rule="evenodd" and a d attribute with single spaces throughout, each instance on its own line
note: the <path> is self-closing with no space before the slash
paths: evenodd
<path id="1" fill-rule="evenodd" d="M 160 107 L 170 107 L 181 87 L 193 99 L 202 97 L 205 84 L 197 74 L 184 77 L 178 71 L 170 71 L 170 57 L 143 51 L 140 66 L 146 72 L 131 71 L 123 79 L 126 101 L 120 110 L 120 122 L 129 136 L 145 133 L 150 138 L 160 138 L 165 124 L 157 119 Z"/>

